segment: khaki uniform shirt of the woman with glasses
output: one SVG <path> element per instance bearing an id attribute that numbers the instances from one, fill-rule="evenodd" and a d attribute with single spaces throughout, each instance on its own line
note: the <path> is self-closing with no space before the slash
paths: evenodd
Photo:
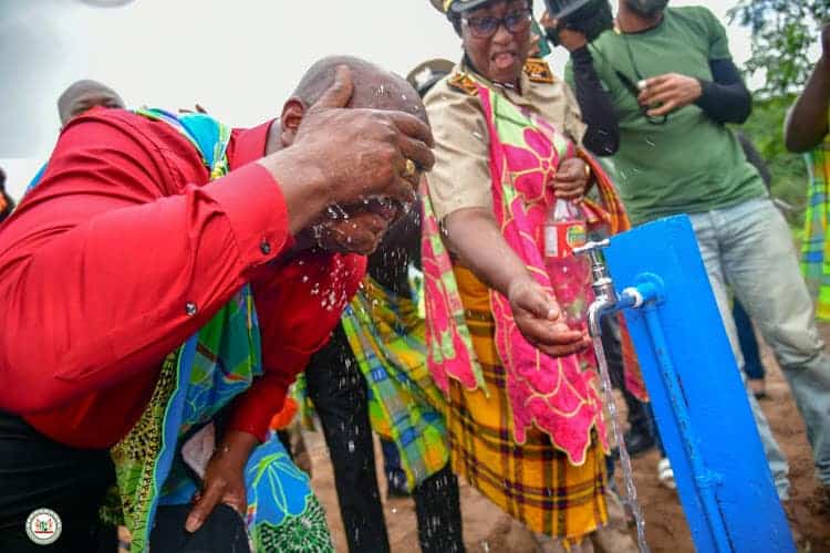
<path id="1" fill-rule="evenodd" d="M 435 136 L 435 167 L 427 176 L 429 198 L 439 221 L 463 208 L 492 210 L 490 140 L 481 102 L 471 86 L 474 77 L 515 105 L 543 117 L 575 143 L 581 144 L 585 134 L 573 92 L 543 62 L 528 62 L 520 77 L 521 94 L 468 72 L 463 64 L 456 65 L 424 98 Z"/>

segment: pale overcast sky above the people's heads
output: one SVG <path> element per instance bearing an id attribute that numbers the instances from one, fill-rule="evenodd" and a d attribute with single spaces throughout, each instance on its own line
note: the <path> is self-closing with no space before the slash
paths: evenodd
<path id="1" fill-rule="evenodd" d="M 733 3 L 671 6 L 707 6 L 726 24 Z M 737 25 L 727 31 L 740 64 L 749 56 L 748 34 Z M 459 59 L 460 43 L 428 0 L 134 0 L 121 8 L 0 0 L 7 187 L 19 197 L 49 157 L 60 128 L 55 101 L 79 79 L 106 83 L 129 106 L 199 103 L 228 124 L 248 126 L 279 114 L 305 69 L 330 54 L 405 75 L 424 60 Z M 561 73 L 566 60 L 560 49 L 549 61 Z"/>

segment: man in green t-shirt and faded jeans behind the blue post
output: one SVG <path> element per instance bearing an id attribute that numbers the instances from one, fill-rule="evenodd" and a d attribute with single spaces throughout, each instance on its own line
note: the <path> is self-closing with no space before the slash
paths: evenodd
<path id="1" fill-rule="evenodd" d="M 616 31 L 590 48 L 620 125 L 620 194 L 636 225 L 688 213 L 736 358 L 743 364 L 727 282 L 775 351 L 807 425 L 818 476 L 830 487 L 830 357 L 789 228 L 725 126 L 746 121 L 751 96 L 715 15 L 667 3 L 621 0 Z M 749 401 L 786 499 L 786 459 L 751 394 Z"/>

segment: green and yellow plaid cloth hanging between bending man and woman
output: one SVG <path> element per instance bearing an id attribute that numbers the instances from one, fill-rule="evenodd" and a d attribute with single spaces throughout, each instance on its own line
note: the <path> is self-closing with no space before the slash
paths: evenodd
<path id="1" fill-rule="evenodd" d="M 449 460 L 445 400 L 426 366 L 417 302 L 367 275 L 342 324 L 366 378 L 372 428 L 395 442 L 412 491 Z"/>

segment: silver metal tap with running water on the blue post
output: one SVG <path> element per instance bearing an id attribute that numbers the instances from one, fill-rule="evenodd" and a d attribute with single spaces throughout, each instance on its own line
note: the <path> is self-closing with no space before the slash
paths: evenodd
<path id="1" fill-rule="evenodd" d="M 605 240 L 588 242 L 581 248 L 573 249 L 575 255 L 587 253 L 591 259 L 591 275 L 593 278 L 591 288 L 593 288 L 595 299 L 588 307 L 588 331 L 592 337 L 602 335 L 600 322 L 604 315 L 625 307 L 639 307 L 643 303 L 643 296 L 635 288 L 623 290 L 622 295 L 616 294 L 614 281 L 608 272 L 605 257 L 602 254 L 602 250 L 609 246 L 611 246 L 611 241 L 606 238 Z"/>

